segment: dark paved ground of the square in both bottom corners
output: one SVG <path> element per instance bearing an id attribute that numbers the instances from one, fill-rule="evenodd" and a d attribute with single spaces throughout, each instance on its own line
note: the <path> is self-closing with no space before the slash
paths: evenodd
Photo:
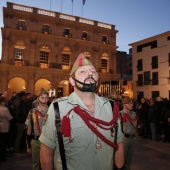
<path id="1" fill-rule="evenodd" d="M 31 155 L 15 153 L 0 163 L 0 170 L 31 170 Z M 170 169 L 170 143 L 150 142 L 149 139 L 136 138 L 135 152 L 131 170 Z"/>

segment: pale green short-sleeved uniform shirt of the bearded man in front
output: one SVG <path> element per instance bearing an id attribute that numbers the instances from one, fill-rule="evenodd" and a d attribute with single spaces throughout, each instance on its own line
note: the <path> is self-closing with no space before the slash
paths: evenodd
<path id="1" fill-rule="evenodd" d="M 69 97 L 64 97 L 55 102 L 58 102 L 59 104 L 61 119 L 63 119 L 63 116 L 73 109 L 74 106 L 80 106 L 81 109 L 89 112 L 87 106 L 75 92 Z M 55 169 L 62 170 L 53 104 L 50 105 L 47 114 L 48 119 L 42 128 L 39 140 L 44 145 L 55 150 Z M 95 118 L 106 122 L 113 119 L 113 112 L 108 99 L 95 95 L 94 116 Z M 67 168 L 69 170 L 112 170 L 114 148 L 101 140 L 101 148 L 98 149 L 96 147 L 96 141 L 98 139 L 97 135 L 87 127 L 82 118 L 76 114 L 74 110 L 71 111 L 69 119 L 73 140 L 70 141 L 69 137 L 63 137 Z M 120 143 L 123 141 L 123 133 L 120 128 L 119 119 L 118 125 L 117 143 Z M 111 135 L 110 130 L 104 130 L 99 127 L 97 127 L 97 129 L 104 137 L 114 142 L 114 136 Z"/>

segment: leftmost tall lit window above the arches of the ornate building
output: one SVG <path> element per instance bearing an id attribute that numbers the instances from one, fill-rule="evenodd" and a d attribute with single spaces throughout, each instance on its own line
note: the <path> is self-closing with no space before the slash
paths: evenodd
<path id="1" fill-rule="evenodd" d="M 24 49 L 15 48 L 15 65 L 22 66 L 24 58 Z"/>

